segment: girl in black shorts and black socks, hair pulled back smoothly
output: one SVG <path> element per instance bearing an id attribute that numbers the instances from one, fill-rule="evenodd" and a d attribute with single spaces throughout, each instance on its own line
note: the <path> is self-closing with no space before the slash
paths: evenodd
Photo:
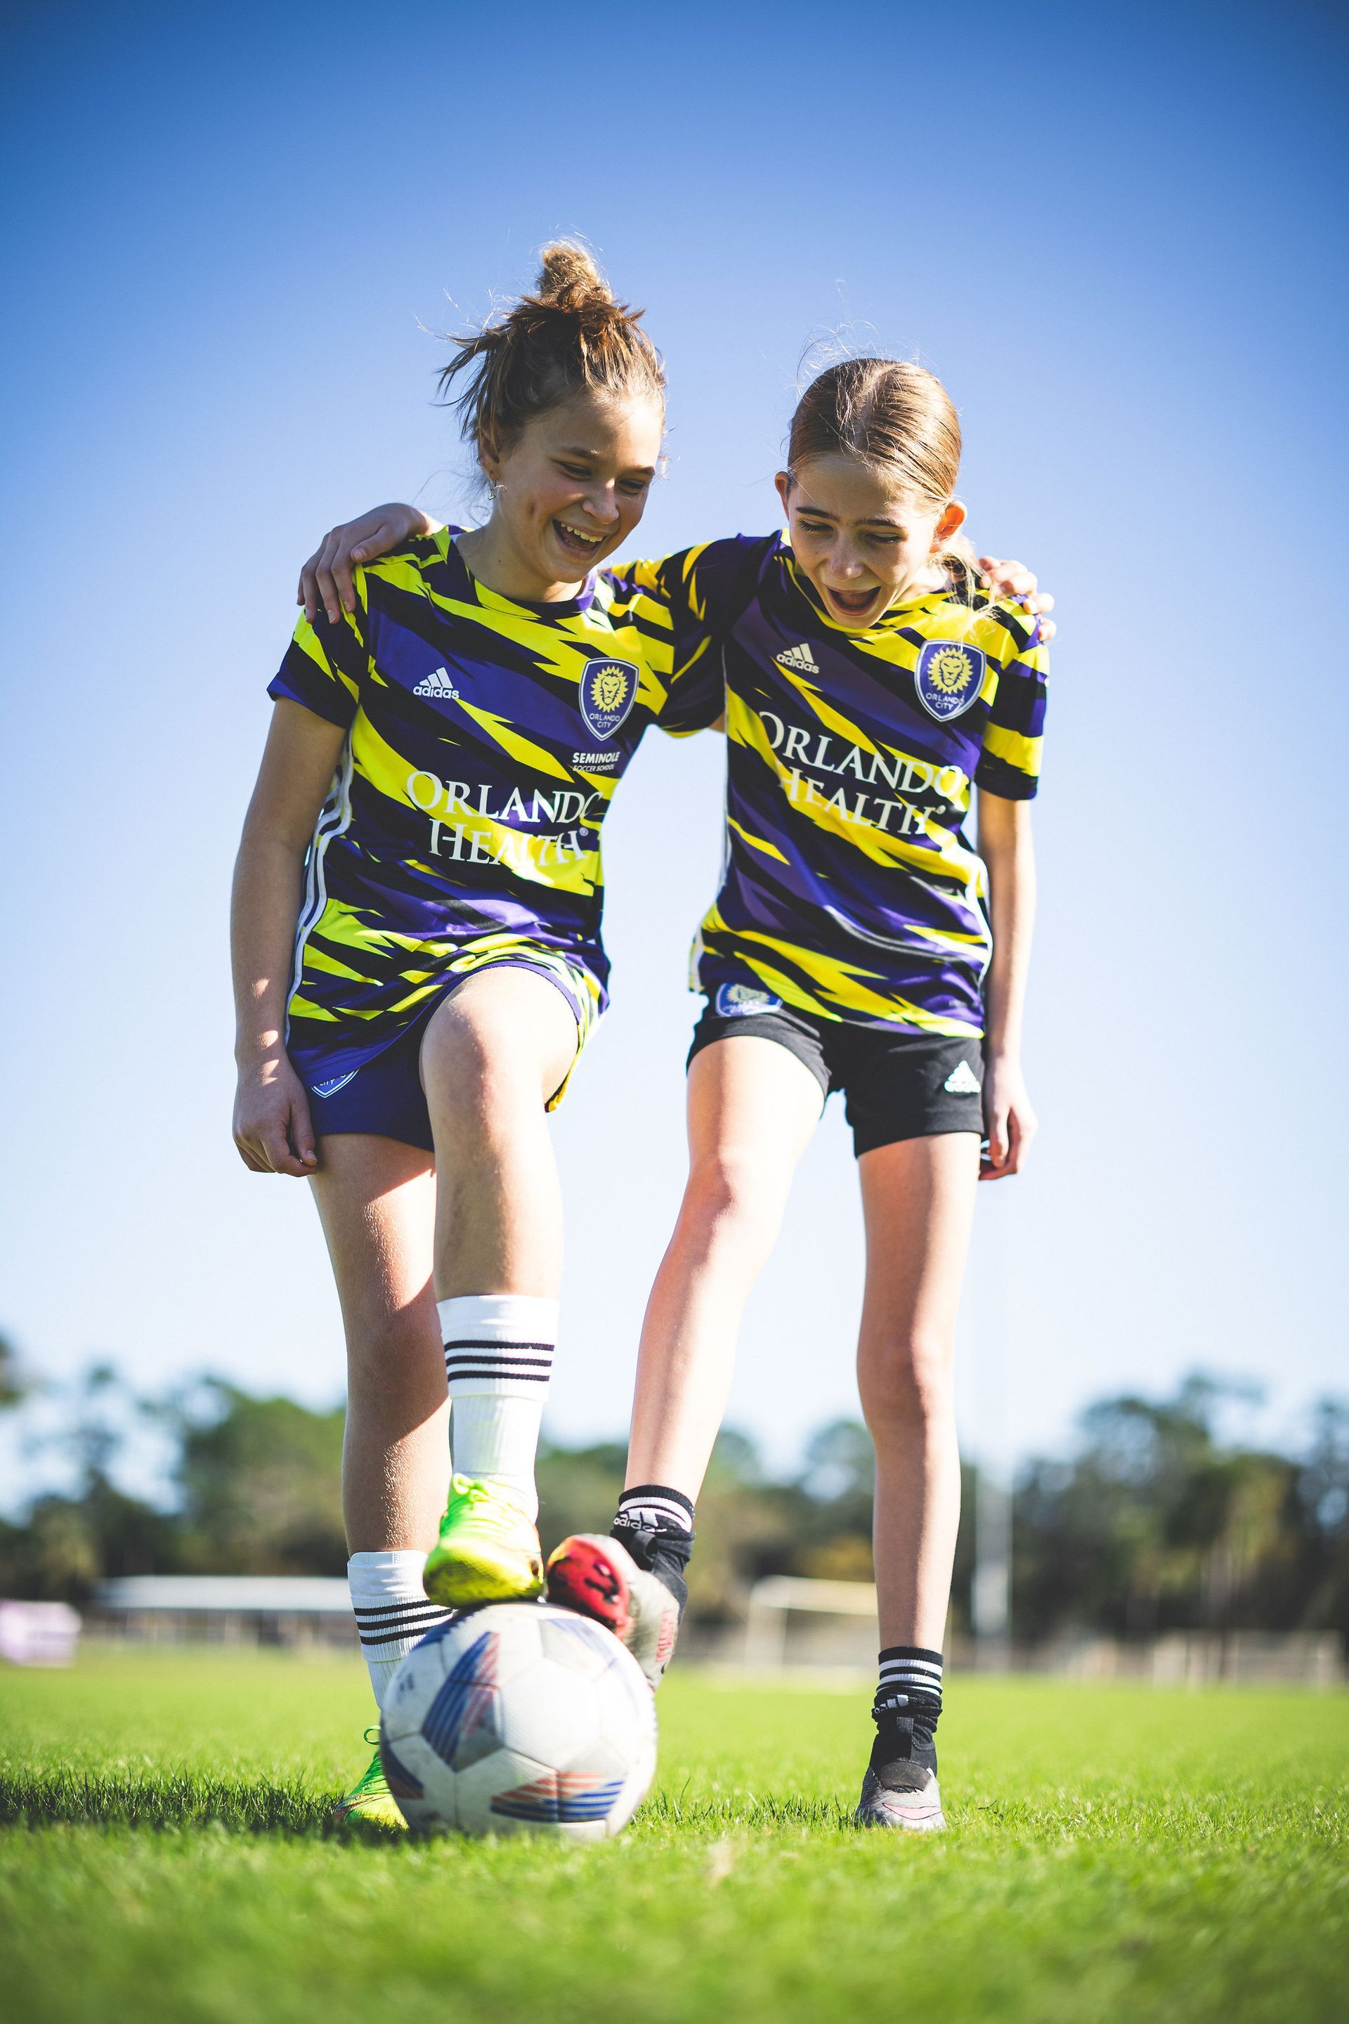
<path id="1" fill-rule="evenodd" d="M 975 1182 L 1015 1172 L 1033 1133 L 1019 1022 L 1052 631 L 1033 579 L 975 565 L 963 542 L 959 455 L 955 409 L 930 374 L 845 360 L 793 419 L 787 532 L 597 579 L 615 623 L 631 623 L 633 656 L 657 656 L 669 698 L 657 719 L 694 729 L 724 714 L 726 870 L 694 947 L 708 1006 L 690 1052 L 690 1180 L 643 1326 L 629 1488 L 613 1534 L 564 1540 L 546 1575 L 552 1601 L 607 1623 L 659 1682 L 738 1318 L 795 1164 L 841 1089 L 868 1229 L 858 1372 L 882 1627 L 858 1820 L 914 1830 L 942 1826 L 932 1735 L 959 1516 L 951 1356 Z M 330 623 L 350 621 L 362 603 L 350 565 L 409 534 L 402 553 L 443 530 L 415 508 L 336 528 L 305 565 L 307 609 L 322 601 Z M 979 852 L 965 836 L 975 787 Z M 439 1273 L 437 1251 L 437 1291 Z M 429 1593 L 435 1569 L 437 1554 Z"/>

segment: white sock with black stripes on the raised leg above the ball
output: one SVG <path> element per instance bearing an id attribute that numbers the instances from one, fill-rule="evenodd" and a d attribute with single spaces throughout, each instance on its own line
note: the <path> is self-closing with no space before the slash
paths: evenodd
<path id="1" fill-rule="evenodd" d="M 558 1336 L 558 1303 L 532 1293 L 463 1293 L 437 1301 L 437 1310 L 455 1473 L 485 1478 L 534 1520 L 534 1453 Z"/>

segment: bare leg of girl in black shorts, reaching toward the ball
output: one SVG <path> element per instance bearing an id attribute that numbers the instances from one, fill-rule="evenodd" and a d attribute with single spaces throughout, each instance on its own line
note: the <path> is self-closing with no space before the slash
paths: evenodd
<path id="1" fill-rule="evenodd" d="M 716 1040 L 688 1077 L 690 1174 L 651 1287 L 627 1482 L 696 1498 L 726 1411 L 740 1314 L 823 1097 L 777 1040 Z"/>

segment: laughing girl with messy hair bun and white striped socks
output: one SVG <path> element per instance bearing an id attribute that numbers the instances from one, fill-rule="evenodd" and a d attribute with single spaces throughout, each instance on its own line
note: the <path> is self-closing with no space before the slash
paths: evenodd
<path id="1" fill-rule="evenodd" d="M 639 314 L 578 247 L 548 247 L 443 385 L 489 518 L 378 561 L 372 542 L 344 607 L 309 603 L 233 903 L 235 1144 L 253 1172 L 309 1178 L 324 1225 L 376 1700 L 447 1609 L 542 1587 L 562 1255 L 544 1111 L 605 1008 L 601 826 L 651 725 L 722 708 L 712 660 L 676 674 L 651 593 L 601 569 L 661 449 Z M 378 1755 L 340 1809 L 402 1822 Z"/>

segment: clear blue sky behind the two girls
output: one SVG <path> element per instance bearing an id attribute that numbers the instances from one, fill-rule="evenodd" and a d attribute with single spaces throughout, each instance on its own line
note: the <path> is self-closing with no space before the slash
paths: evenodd
<path id="1" fill-rule="evenodd" d="M 647 306 L 639 546 L 758 532 L 803 348 L 922 358 L 977 540 L 1060 599 L 1031 1172 L 983 1190 L 973 1449 L 1191 1368 L 1292 1437 L 1341 1295 L 1345 28 L 1321 6 L 51 4 L 8 16 L 0 1324 L 69 1374 L 342 1386 L 301 1184 L 229 1142 L 224 903 L 297 563 L 453 516 L 433 332 L 582 233 Z M 449 300 L 447 300 L 449 298 Z M 682 1184 L 720 751 L 609 826 L 615 1010 L 556 1142 L 552 1425 L 617 1433 Z M 856 1178 L 811 1150 L 732 1417 L 853 1411 Z"/>

